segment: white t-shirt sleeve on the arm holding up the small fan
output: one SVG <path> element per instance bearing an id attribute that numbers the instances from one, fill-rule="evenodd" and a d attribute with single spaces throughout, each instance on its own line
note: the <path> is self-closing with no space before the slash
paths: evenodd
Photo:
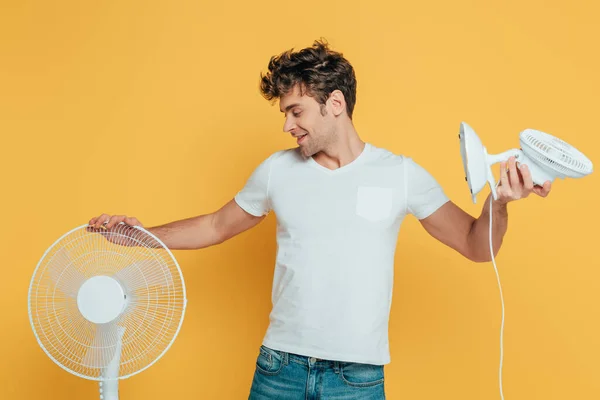
<path id="1" fill-rule="evenodd" d="M 444 190 L 423 167 L 412 158 L 405 157 L 406 200 L 408 212 L 423 219 L 444 205 L 449 199 Z"/>

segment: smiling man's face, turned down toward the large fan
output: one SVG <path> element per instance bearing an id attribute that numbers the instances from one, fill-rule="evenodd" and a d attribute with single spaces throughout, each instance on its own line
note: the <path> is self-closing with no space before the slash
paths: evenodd
<path id="1" fill-rule="evenodd" d="M 328 103 L 321 105 L 306 93 L 300 96 L 297 86 L 279 99 L 285 116 L 283 131 L 296 138 L 304 157 L 325 150 L 335 140 L 335 118 Z"/>

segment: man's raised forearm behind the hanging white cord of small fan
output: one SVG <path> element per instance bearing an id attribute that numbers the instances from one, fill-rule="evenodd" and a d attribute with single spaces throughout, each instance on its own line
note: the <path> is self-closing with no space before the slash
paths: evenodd
<path id="1" fill-rule="evenodd" d="M 471 247 L 472 259 L 477 262 L 491 261 L 490 255 L 490 198 L 491 193 L 485 200 L 481 215 L 473 222 L 469 232 L 469 246 Z M 508 210 L 506 204 L 493 202 L 492 205 L 492 243 L 494 257 L 500 251 L 504 234 L 508 228 Z"/>

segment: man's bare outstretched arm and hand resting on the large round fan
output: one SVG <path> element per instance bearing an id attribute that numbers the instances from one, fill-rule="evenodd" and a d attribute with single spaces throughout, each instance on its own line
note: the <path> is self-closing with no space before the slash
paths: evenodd
<path id="1" fill-rule="evenodd" d="M 232 199 L 214 213 L 146 229 L 158 237 L 169 249 L 192 250 L 222 243 L 256 226 L 264 218 L 265 216 L 255 217 L 247 213 Z M 106 214 L 92 218 L 89 224 L 99 228 L 106 223 L 106 229 L 109 230 L 120 222 L 132 226 L 143 226 L 134 217 Z"/>

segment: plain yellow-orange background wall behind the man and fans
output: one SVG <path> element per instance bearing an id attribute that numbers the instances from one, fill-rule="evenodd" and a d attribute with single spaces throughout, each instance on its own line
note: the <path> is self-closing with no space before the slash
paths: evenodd
<path id="1" fill-rule="evenodd" d="M 44 251 L 100 213 L 146 226 L 214 211 L 293 147 L 258 92 L 271 55 L 325 37 L 353 63 L 362 137 L 410 155 L 461 207 L 468 122 L 490 152 L 535 128 L 600 163 L 600 7 L 592 1 L 6 1 L 0 5 L 0 398 L 93 399 L 40 349 L 27 290 Z M 497 174 L 497 166 L 495 168 Z M 598 399 L 599 175 L 510 205 L 497 258 L 507 400 Z M 123 399 L 247 398 L 268 324 L 275 218 L 176 252 L 189 304 Z M 409 217 L 396 256 L 390 399 L 498 399 L 500 298 Z"/>

